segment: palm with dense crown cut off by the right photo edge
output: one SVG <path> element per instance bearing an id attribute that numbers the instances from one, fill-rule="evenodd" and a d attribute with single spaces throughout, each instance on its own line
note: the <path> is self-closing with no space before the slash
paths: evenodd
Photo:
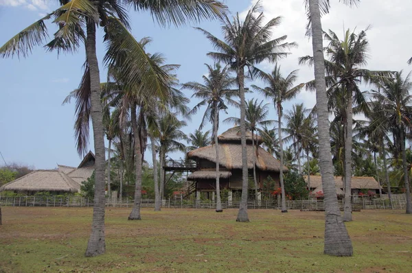
<path id="1" fill-rule="evenodd" d="M 380 92 L 372 91 L 372 96 L 382 104 L 382 115 L 378 124 L 386 128 L 386 132 L 393 134 L 394 146 L 399 147 L 402 153 L 402 165 L 404 171 L 404 187 L 407 193 L 407 214 L 412 213 L 411 190 L 407 168 L 407 155 L 405 152 L 405 140 L 412 123 L 412 82 L 411 73 L 406 78 L 402 77 L 402 71 L 397 72 L 394 78 L 382 79 L 377 85 Z M 397 151 L 396 151 L 397 152 Z"/>

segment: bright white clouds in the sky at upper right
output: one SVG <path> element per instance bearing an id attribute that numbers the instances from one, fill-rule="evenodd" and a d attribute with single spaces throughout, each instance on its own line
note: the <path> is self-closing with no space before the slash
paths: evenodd
<path id="1" fill-rule="evenodd" d="M 251 5 L 257 0 L 251 1 Z M 299 47 L 291 49 L 288 58 L 279 61 L 284 75 L 299 69 L 299 82 L 306 82 L 314 78 L 312 68 L 301 67 L 297 63 L 300 56 L 312 56 L 312 44 L 305 36 L 306 10 L 302 0 L 272 1 L 263 0 L 266 21 L 282 16 L 282 23 L 274 29 L 273 38 L 288 35 L 288 42 L 298 43 Z M 250 6 L 251 6 L 250 5 Z M 249 8 L 250 8 L 249 6 Z M 405 72 L 412 70 L 407 60 L 412 56 L 412 21 L 409 12 L 412 10 L 412 1 L 402 0 L 363 0 L 358 8 L 349 8 L 339 1 L 332 1 L 330 14 L 322 19 L 323 29 L 332 29 L 339 37 L 345 29 L 361 31 L 368 25 L 369 61 L 367 69 L 391 70 Z M 245 16 L 247 11 L 241 12 Z M 265 71 L 273 69 L 273 64 L 264 63 Z M 304 102 L 306 107 L 312 107 L 316 101 L 314 93 L 303 92 L 297 97 L 298 102 Z"/>

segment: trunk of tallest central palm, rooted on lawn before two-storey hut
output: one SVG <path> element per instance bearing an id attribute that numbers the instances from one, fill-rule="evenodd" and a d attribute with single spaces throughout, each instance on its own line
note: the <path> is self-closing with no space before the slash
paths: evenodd
<path id="1" fill-rule="evenodd" d="M 240 200 L 239 213 L 236 222 L 249 222 L 247 215 L 247 195 L 248 195 L 248 168 L 246 150 L 246 124 L 244 117 L 246 105 L 244 103 L 244 66 L 238 67 L 238 84 L 240 94 L 240 143 L 242 145 L 242 198 Z"/>

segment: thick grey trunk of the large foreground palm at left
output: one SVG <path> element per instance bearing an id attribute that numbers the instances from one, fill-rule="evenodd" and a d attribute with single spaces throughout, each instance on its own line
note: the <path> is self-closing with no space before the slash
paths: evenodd
<path id="1" fill-rule="evenodd" d="M 104 132 L 102 123 L 102 102 L 100 100 L 99 64 L 96 56 L 95 24 L 87 21 L 86 58 L 90 71 L 91 87 L 91 121 L 93 124 L 93 140 L 95 148 L 95 196 L 93 204 L 93 219 L 91 235 L 84 255 L 93 257 L 106 251 L 104 241 Z"/>

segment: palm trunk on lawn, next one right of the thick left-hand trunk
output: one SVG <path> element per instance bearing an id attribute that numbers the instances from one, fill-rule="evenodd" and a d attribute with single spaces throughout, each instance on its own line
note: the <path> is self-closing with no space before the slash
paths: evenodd
<path id="1" fill-rule="evenodd" d="M 130 113 L 133 137 L 135 139 L 135 200 L 133 204 L 133 209 L 128 217 L 129 220 L 140 220 L 140 202 L 141 202 L 141 147 L 140 147 L 140 134 L 137 128 L 137 118 L 136 118 L 136 105 L 131 107 Z"/>

